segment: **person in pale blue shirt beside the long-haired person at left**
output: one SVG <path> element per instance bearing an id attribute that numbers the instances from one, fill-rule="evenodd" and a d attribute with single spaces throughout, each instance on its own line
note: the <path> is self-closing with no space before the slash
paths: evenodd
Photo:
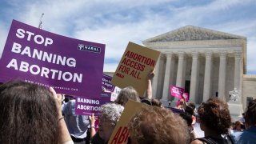
<path id="1" fill-rule="evenodd" d="M 63 107 L 62 113 L 65 117 L 66 126 L 70 132 L 71 138 L 75 144 L 86 143 L 86 132 L 90 125 L 88 116 L 76 115 L 75 111 L 75 99 L 70 99 Z"/>

